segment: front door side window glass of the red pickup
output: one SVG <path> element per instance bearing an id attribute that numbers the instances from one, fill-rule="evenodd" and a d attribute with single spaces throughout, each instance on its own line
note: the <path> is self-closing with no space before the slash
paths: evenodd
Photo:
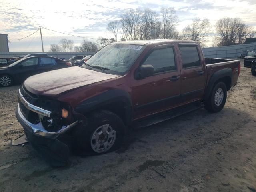
<path id="1" fill-rule="evenodd" d="M 173 48 L 154 50 L 142 65 L 152 65 L 154 73 L 176 70 Z"/>

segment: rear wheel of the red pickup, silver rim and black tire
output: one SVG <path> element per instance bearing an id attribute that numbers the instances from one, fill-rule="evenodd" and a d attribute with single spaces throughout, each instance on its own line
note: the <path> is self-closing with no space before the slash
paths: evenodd
<path id="1" fill-rule="evenodd" d="M 222 110 L 227 99 L 227 88 L 224 82 L 218 82 L 207 100 L 204 101 L 204 108 L 210 112 Z"/>

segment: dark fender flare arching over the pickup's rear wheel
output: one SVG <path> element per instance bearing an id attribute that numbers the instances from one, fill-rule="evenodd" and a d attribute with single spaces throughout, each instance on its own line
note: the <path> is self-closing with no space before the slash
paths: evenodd
<path id="1" fill-rule="evenodd" d="M 224 78 L 224 77 L 230 77 L 230 80 L 232 80 L 232 69 L 231 68 L 224 68 L 224 69 L 214 72 L 214 74 L 211 76 L 209 83 L 206 87 L 206 90 L 204 92 L 203 100 L 207 100 L 209 98 L 214 84 L 219 79 Z M 227 88 L 227 89 L 229 89 L 229 88 Z"/>

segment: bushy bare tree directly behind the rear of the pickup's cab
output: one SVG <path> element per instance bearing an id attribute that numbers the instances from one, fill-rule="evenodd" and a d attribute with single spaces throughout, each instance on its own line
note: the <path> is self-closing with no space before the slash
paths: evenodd
<path id="1" fill-rule="evenodd" d="M 205 41 L 206 36 L 210 33 L 211 25 L 208 19 L 196 18 L 192 24 L 182 30 L 184 40 L 193 40 L 199 43 Z"/>

